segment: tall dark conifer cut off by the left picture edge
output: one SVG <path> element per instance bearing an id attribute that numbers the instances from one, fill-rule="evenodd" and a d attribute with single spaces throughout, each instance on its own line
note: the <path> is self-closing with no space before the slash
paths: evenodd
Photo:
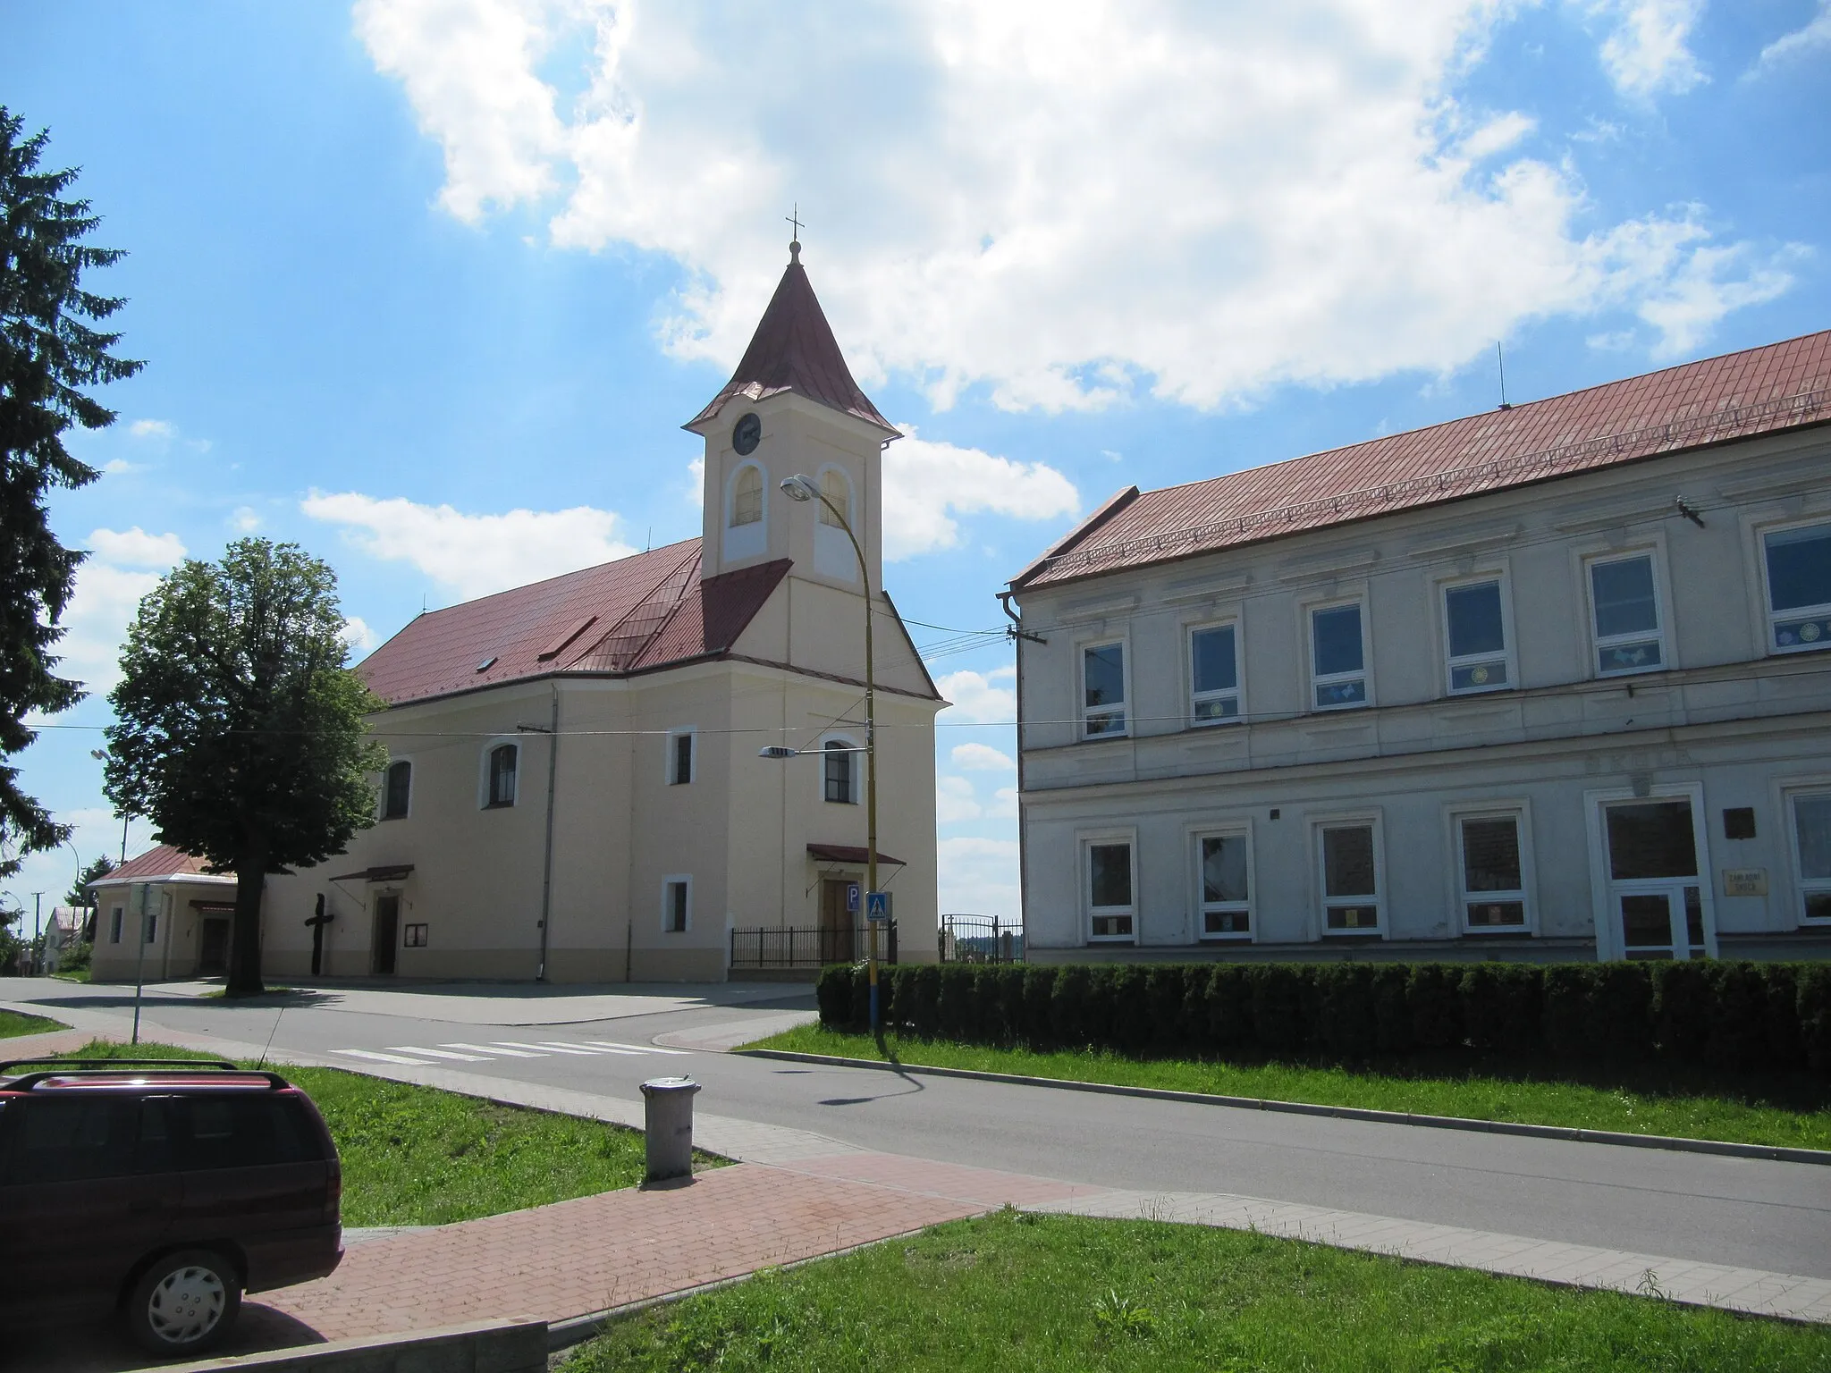
<path id="1" fill-rule="evenodd" d="M 46 494 L 99 476 L 64 449 L 71 425 L 104 428 L 115 419 L 82 388 L 143 366 L 108 351 L 119 333 L 93 328 L 125 300 L 82 289 L 82 273 L 121 251 L 81 242 L 99 218 L 86 200 L 64 200 L 77 168 L 40 172 L 48 134 L 22 139 L 22 128 L 0 104 L 0 877 L 16 873 L 22 855 L 70 837 L 5 763 L 37 738 L 27 712 L 82 699 L 81 683 L 53 672 L 51 654 L 82 553 L 51 533 Z"/>

